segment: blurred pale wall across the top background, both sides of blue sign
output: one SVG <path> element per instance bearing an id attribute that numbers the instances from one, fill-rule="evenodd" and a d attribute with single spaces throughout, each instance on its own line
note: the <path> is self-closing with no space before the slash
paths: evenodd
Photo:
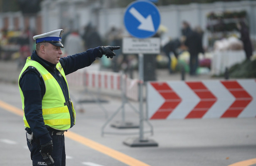
<path id="1" fill-rule="evenodd" d="M 35 28 L 36 33 L 66 27 L 78 29 L 82 33 L 83 28 L 91 23 L 102 36 L 113 26 L 123 28 L 124 33 L 128 34 L 124 28 L 123 22 L 126 8 L 102 9 L 99 1 L 88 5 L 86 1 L 45 0 L 41 5 L 42 10 L 38 15 L 42 23 L 40 24 L 38 22 L 39 18 L 37 17 L 30 18 L 32 19 L 30 24 L 36 24 L 36 26 L 32 26 L 32 28 Z M 246 10 L 250 24 L 251 37 L 256 39 L 256 1 L 214 2 L 211 4 L 192 3 L 189 5 L 168 5 L 159 7 L 161 24 L 167 27 L 168 31 L 166 35 L 171 38 L 180 36 L 181 22 L 183 20 L 189 21 L 191 27 L 199 25 L 205 30 L 207 25 L 206 15 L 209 12 L 223 12 L 226 10 Z M 2 29 L 7 24 L 8 29 L 13 29 L 14 18 L 17 17 L 22 20 L 22 13 L 0 13 L 0 28 Z M 42 27 L 38 28 L 37 26 Z M 23 20 L 19 21 L 19 27 L 25 28 Z"/>

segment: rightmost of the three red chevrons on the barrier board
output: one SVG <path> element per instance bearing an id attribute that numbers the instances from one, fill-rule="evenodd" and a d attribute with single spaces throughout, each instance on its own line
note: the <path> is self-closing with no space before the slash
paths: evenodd
<path id="1" fill-rule="evenodd" d="M 234 103 L 231 104 L 221 117 L 238 117 L 244 108 L 251 102 L 252 97 L 237 81 L 221 81 L 221 83 L 236 98 Z"/>

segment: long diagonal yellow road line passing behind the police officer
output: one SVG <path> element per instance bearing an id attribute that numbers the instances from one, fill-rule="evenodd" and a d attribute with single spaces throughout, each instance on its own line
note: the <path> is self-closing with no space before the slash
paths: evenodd
<path id="1" fill-rule="evenodd" d="M 16 115 L 23 117 L 23 110 L 21 110 L 17 107 L 14 107 L 12 105 L 9 105 L 1 100 L 0 100 L 0 107 L 2 107 L 3 109 L 5 109 L 7 111 L 10 111 Z M 88 146 L 88 147 L 96 150 L 96 151 L 106 154 L 107 156 L 110 156 L 118 161 L 121 161 L 122 163 L 127 164 L 128 166 L 149 166 L 148 164 L 145 164 L 142 161 L 139 161 L 139 160 L 134 159 L 126 154 L 119 152 L 119 151 L 116 151 L 107 146 L 104 146 L 102 144 L 94 142 L 91 139 L 83 137 L 74 132 L 68 131 L 65 133 L 65 136 L 76 141 L 76 142 L 79 142 L 80 144 L 83 144 L 85 146 Z"/>

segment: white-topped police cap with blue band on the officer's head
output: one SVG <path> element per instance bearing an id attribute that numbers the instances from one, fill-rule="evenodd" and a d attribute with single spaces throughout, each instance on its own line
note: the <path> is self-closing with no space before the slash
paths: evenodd
<path id="1" fill-rule="evenodd" d="M 48 42 L 50 44 L 53 44 L 55 46 L 60 46 L 63 48 L 64 46 L 61 43 L 62 34 L 63 34 L 63 29 L 57 29 L 44 34 L 35 35 L 33 36 L 33 39 L 35 40 L 35 43 Z"/>

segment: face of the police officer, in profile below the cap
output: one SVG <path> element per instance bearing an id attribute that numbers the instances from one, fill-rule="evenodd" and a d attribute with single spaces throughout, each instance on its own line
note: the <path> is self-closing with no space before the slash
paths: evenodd
<path id="1" fill-rule="evenodd" d="M 59 63 L 61 54 L 62 54 L 62 51 L 59 46 L 55 46 L 52 44 L 47 44 L 47 46 L 45 46 L 45 60 L 46 61 L 53 63 L 53 64 L 57 64 L 57 63 Z"/>

